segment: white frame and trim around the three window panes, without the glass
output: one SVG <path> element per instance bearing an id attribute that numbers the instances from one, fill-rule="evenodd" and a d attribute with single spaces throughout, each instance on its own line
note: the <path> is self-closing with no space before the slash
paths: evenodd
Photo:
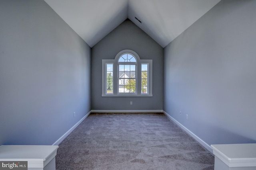
<path id="1" fill-rule="evenodd" d="M 118 93 L 118 75 L 119 75 L 119 68 L 118 68 L 118 59 L 124 53 L 130 53 L 133 55 L 137 60 L 137 68 L 136 68 L 136 91 L 137 93 Z M 106 94 L 106 64 L 113 63 L 113 94 Z M 141 64 L 148 64 L 148 93 L 142 94 L 141 93 Z M 102 97 L 152 97 L 152 60 L 142 60 L 140 59 L 139 55 L 129 49 L 120 51 L 115 59 L 102 59 Z"/>

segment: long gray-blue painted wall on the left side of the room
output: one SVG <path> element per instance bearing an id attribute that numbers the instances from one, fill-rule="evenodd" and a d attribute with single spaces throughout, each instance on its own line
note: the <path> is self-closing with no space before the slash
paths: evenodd
<path id="1" fill-rule="evenodd" d="M 90 47 L 43 0 L 0 23 L 0 145 L 52 145 L 91 109 Z"/>

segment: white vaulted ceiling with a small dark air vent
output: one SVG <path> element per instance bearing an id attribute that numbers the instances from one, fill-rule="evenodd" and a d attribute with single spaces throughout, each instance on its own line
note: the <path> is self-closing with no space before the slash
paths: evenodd
<path id="1" fill-rule="evenodd" d="M 220 2 L 220 0 L 44 1 L 90 47 L 127 18 L 165 47 Z"/>

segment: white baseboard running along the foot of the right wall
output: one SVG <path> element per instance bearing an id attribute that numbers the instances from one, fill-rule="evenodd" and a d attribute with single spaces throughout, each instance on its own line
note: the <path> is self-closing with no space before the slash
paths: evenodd
<path id="1" fill-rule="evenodd" d="M 208 145 L 206 142 L 204 142 L 202 139 L 200 139 L 198 136 L 196 136 L 193 132 L 191 132 L 190 130 L 188 130 L 185 126 L 183 126 L 180 122 L 176 121 L 176 119 L 174 119 L 172 116 L 168 115 L 164 110 L 163 113 L 172 121 L 174 121 L 174 123 L 176 123 L 181 129 L 183 129 L 184 131 L 186 131 L 190 136 L 192 136 L 194 139 L 196 139 L 196 141 L 198 141 L 201 145 L 203 145 L 207 150 L 209 150 L 211 153 L 213 153 L 212 151 L 212 147 L 210 147 L 210 145 Z"/>

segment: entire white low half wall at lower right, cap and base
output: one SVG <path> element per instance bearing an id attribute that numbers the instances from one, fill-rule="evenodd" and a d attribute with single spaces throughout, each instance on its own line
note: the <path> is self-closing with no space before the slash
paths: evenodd
<path id="1" fill-rule="evenodd" d="M 214 170 L 256 170 L 256 143 L 211 145 Z"/>

